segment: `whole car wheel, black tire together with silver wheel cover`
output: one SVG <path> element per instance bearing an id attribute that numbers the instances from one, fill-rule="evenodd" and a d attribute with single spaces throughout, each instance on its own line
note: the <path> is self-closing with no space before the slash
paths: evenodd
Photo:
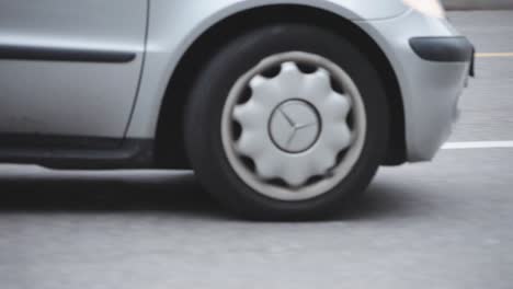
<path id="1" fill-rule="evenodd" d="M 201 71 L 185 141 L 201 182 L 236 212 L 319 218 L 371 182 L 387 112 L 357 46 L 320 27 L 272 25 L 232 39 Z"/>

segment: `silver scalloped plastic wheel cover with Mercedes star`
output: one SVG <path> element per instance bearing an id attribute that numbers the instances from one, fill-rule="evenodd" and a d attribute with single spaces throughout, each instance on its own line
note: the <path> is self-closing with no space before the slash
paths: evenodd
<path id="1" fill-rule="evenodd" d="M 315 71 L 303 72 L 298 65 Z M 263 76 L 273 68 L 280 72 Z M 247 89 L 251 95 L 243 102 Z M 365 143 L 365 107 L 355 83 L 339 66 L 312 54 L 262 60 L 237 80 L 221 118 L 223 147 L 236 174 L 278 200 L 329 192 L 347 176 Z"/>

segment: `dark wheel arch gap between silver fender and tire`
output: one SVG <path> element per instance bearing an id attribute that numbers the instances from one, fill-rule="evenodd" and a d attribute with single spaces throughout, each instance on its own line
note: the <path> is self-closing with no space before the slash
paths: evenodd
<path id="1" fill-rule="evenodd" d="M 201 34 L 186 49 L 166 89 L 156 131 L 156 163 L 166 169 L 190 169 L 183 141 L 183 112 L 197 71 L 217 49 L 248 30 L 273 23 L 309 23 L 350 36 L 376 66 L 390 109 L 390 138 L 384 164 L 406 161 L 404 108 L 399 81 L 379 45 L 346 18 L 301 4 L 275 4 L 236 12 Z"/>

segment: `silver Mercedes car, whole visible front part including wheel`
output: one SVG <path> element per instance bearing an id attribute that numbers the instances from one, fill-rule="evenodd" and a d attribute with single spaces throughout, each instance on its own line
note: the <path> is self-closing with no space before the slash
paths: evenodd
<path id="1" fill-rule="evenodd" d="M 0 0 L 0 161 L 192 169 L 240 216 L 326 218 L 434 157 L 472 59 L 437 0 Z"/>

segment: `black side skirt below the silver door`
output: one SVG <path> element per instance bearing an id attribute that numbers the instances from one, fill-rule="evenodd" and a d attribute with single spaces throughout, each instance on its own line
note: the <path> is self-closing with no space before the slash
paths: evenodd
<path id="1" fill-rule="evenodd" d="M 153 140 L 0 135 L 0 163 L 52 169 L 153 167 Z"/>

